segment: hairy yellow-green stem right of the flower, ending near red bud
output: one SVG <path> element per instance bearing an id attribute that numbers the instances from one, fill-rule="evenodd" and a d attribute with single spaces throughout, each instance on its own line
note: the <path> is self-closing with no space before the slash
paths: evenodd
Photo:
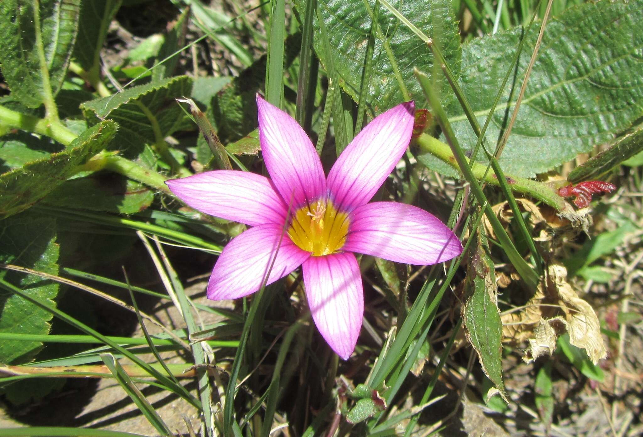
<path id="1" fill-rule="evenodd" d="M 451 152 L 451 148 L 445 143 L 442 143 L 439 139 L 433 138 L 428 134 L 421 134 L 419 138 L 415 139 L 415 144 L 417 144 L 423 153 L 430 153 L 460 172 L 460 166 L 458 166 L 455 156 L 453 156 L 453 153 Z M 487 166 L 480 163 L 474 162 L 473 166 L 471 166 L 471 172 L 473 172 L 473 175 L 478 179 L 478 181 L 484 181 L 485 183 L 494 186 L 500 186 L 496 175 L 486 174 L 485 170 L 487 170 Z M 511 175 L 506 175 L 505 180 L 507 180 L 507 183 L 513 192 L 530 195 L 530 197 L 538 199 L 539 201 L 552 206 L 552 208 L 556 208 L 559 212 L 568 213 L 573 211 L 570 204 L 568 204 L 563 197 L 560 197 L 554 188 L 546 183 Z"/>

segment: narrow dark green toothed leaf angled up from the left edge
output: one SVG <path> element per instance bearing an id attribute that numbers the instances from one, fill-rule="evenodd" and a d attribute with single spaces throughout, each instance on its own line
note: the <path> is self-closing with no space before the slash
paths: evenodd
<path id="1" fill-rule="evenodd" d="M 102 121 L 87 129 L 66 150 L 0 175 L 0 219 L 26 210 L 73 175 L 107 146 L 116 123 Z"/>

